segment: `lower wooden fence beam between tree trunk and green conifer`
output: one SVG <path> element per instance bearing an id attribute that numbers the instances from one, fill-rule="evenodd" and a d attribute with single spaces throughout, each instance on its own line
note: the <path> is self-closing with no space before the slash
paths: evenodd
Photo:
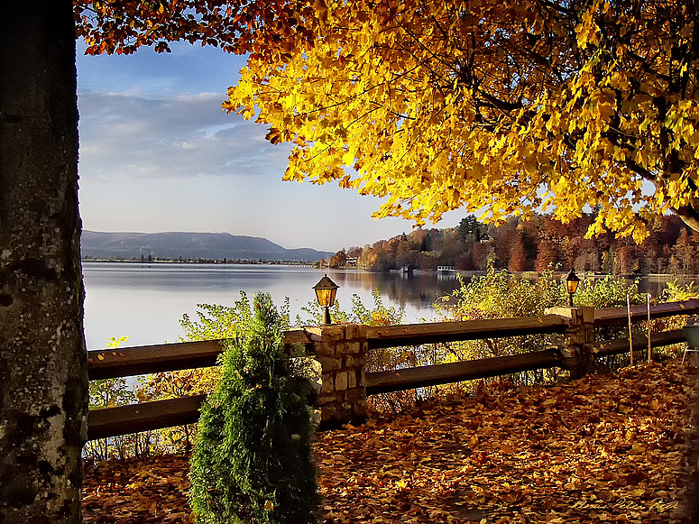
<path id="1" fill-rule="evenodd" d="M 94 409 L 87 413 L 87 440 L 192 424 L 198 421 L 199 408 L 206 397 L 197 395 Z"/>

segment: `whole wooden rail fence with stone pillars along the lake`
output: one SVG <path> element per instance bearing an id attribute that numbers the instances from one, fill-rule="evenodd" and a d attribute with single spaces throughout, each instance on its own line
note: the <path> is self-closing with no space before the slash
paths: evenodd
<path id="1" fill-rule="evenodd" d="M 650 317 L 699 314 L 699 300 L 659 304 Z M 631 320 L 646 320 L 645 306 L 631 308 Z M 289 348 L 303 345 L 320 363 L 322 386 L 317 397 L 321 421 L 328 424 L 363 418 L 366 396 L 409 390 L 448 382 L 562 367 L 579 376 L 591 370 L 596 356 L 629 351 L 628 339 L 595 341 L 593 329 L 626 322 L 626 308 L 553 308 L 543 317 L 471 320 L 401 326 L 334 325 L 308 327 L 285 334 Z M 485 358 L 466 362 L 366 372 L 372 349 L 406 345 L 437 344 L 509 336 L 554 334 L 558 346 L 550 351 Z M 221 340 L 148 345 L 89 351 L 90 380 L 124 377 L 152 372 L 170 372 L 216 364 L 223 351 Z M 681 329 L 654 333 L 650 345 L 658 347 L 685 342 Z M 635 337 L 634 349 L 648 347 L 646 336 Z M 89 439 L 113 437 L 161 427 L 179 426 L 198 420 L 204 395 L 143 402 L 129 406 L 91 410 L 87 417 Z"/>

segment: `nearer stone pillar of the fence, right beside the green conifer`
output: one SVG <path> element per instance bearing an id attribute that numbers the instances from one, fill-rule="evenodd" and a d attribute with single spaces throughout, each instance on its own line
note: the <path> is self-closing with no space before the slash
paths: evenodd
<path id="1" fill-rule="evenodd" d="M 307 327 L 306 331 L 322 368 L 316 400 L 320 424 L 333 427 L 362 421 L 367 415 L 364 365 L 369 350 L 364 326 Z"/>

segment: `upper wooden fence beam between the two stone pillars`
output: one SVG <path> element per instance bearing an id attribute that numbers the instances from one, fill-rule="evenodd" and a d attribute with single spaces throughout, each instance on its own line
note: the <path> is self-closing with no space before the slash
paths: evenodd
<path id="1" fill-rule="evenodd" d="M 372 326 L 367 327 L 366 337 L 370 348 L 379 348 L 503 336 L 563 333 L 565 330 L 565 318 L 546 315 L 544 317 L 496 318 L 465 320 L 463 322 L 430 322 L 404 326 Z"/>

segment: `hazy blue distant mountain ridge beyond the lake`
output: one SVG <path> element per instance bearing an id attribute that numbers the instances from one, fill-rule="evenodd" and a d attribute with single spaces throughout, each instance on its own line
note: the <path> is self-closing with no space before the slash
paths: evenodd
<path id="1" fill-rule="evenodd" d="M 335 253 L 315 249 L 286 249 L 265 238 L 228 233 L 98 233 L 83 231 L 82 256 L 86 259 L 237 259 L 281 262 L 315 262 Z"/>

